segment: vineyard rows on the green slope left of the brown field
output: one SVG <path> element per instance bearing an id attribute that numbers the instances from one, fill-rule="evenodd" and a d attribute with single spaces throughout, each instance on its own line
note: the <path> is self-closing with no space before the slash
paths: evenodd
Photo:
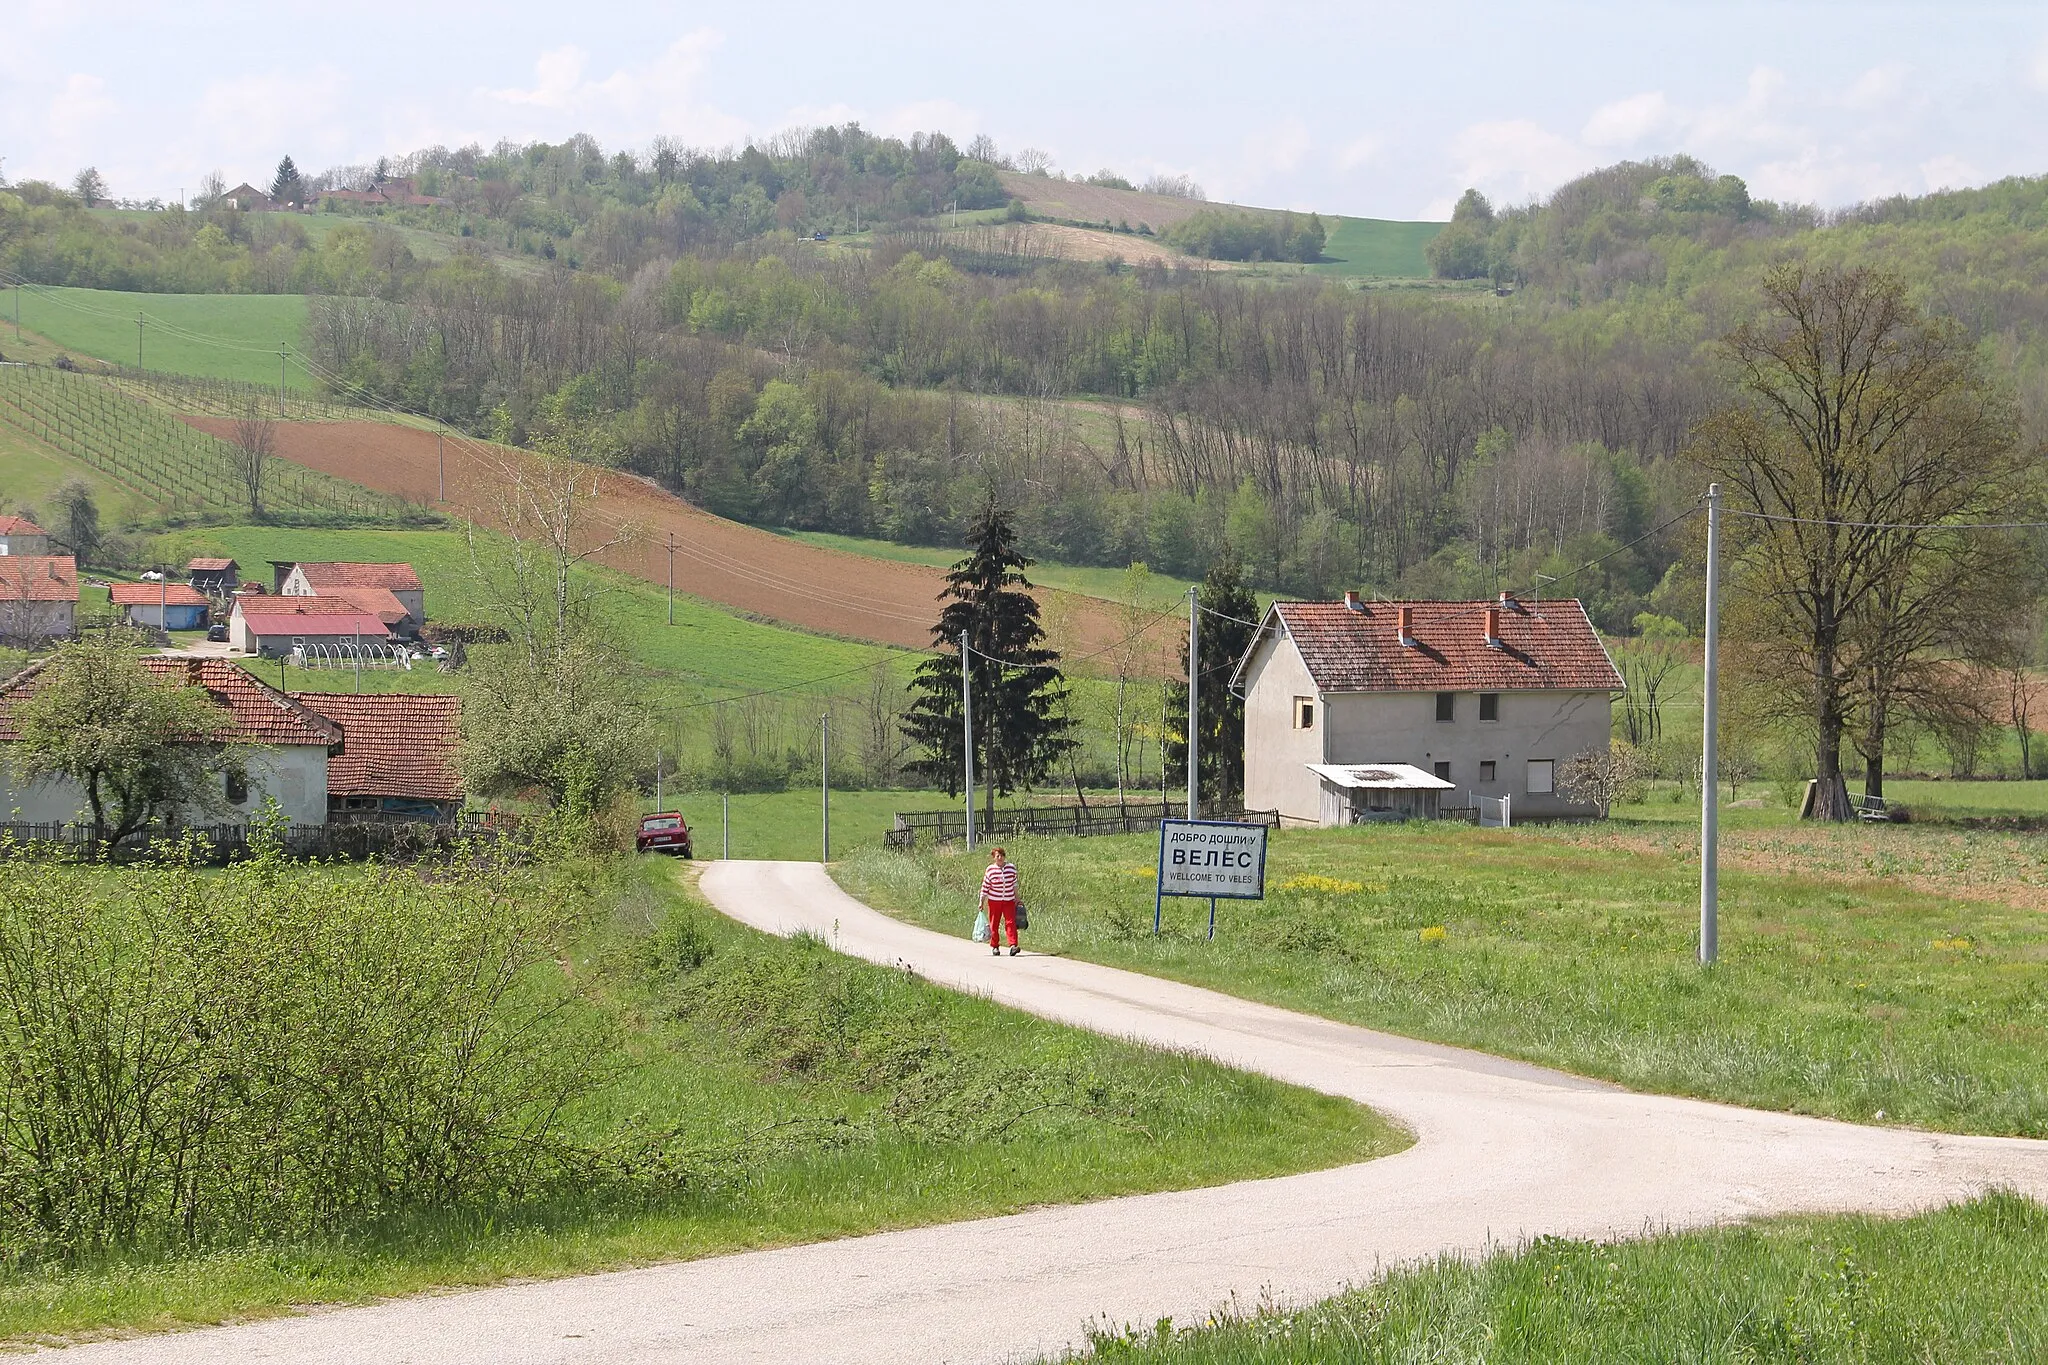
<path id="1" fill-rule="evenodd" d="M 145 491 L 170 516 L 248 505 L 229 446 L 117 387 L 119 381 L 45 366 L 0 366 L 0 422 Z M 340 479 L 270 460 L 264 512 L 391 518 L 399 503 Z"/>

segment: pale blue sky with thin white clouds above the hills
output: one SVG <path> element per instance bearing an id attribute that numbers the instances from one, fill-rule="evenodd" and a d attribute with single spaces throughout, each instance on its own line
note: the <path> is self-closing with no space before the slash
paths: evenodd
<path id="1" fill-rule="evenodd" d="M 991 135 L 1212 199 L 1446 217 L 1692 151 L 1821 205 L 2048 172 L 2042 4 L 8 0 L 0 174 L 119 196 L 498 137 Z"/>

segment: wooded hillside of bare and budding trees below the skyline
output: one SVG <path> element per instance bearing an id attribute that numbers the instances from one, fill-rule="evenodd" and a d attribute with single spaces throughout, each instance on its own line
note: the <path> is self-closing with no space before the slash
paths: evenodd
<path id="1" fill-rule="evenodd" d="M 1696 602 L 1677 532 L 1642 536 L 1700 491 L 1679 454 L 1726 395 L 1706 342 L 1769 262 L 1898 270 L 2044 430 L 2048 178 L 1823 215 L 1688 158 L 1622 164 L 1526 209 L 1468 194 L 1432 260 L 1493 291 L 1360 291 L 954 252 L 940 211 L 1008 203 L 977 151 L 858 129 L 432 151 L 391 170 L 444 205 L 317 239 L 23 186 L 0 268 L 319 295 L 305 350 L 338 393 L 756 524 L 956 544 L 995 487 L 1036 555 L 1200 573 L 1229 548 L 1288 593 L 1530 589 L 1608 557 L 1567 589 L 1618 630 Z M 393 223 L 455 248 L 430 260 Z"/>

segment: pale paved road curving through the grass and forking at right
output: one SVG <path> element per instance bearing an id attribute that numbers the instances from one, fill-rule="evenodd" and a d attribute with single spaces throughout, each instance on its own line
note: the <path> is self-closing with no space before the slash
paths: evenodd
<path id="1" fill-rule="evenodd" d="M 868 911 L 817 864 L 719 862 L 702 884 L 760 929 L 807 929 L 1049 1019 L 1358 1099 L 1417 1142 L 1315 1175 L 80 1347 L 63 1365 L 1028 1361 L 1096 1316 L 1149 1324 L 1231 1295 L 1325 1295 L 1389 1263 L 1544 1232 L 1909 1212 L 1991 1185 L 2048 1197 L 2048 1142 L 1632 1095 L 1085 962 L 997 962 Z"/>

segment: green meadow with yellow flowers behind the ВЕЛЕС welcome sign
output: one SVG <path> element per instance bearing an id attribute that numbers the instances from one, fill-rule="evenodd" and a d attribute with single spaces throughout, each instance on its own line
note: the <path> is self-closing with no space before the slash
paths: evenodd
<path id="1" fill-rule="evenodd" d="M 1917 857 L 1933 880 L 1948 851 L 1931 831 L 1784 831 L 1837 839 L 1839 862 L 1724 872 L 1722 960 L 1702 970 L 1698 864 L 1655 833 L 1282 831 L 1268 898 L 1223 902 L 1212 943 L 1198 900 L 1167 900 L 1153 937 L 1155 835 L 1006 845 L 1040 952 L 1642 1091 L 2048 1134 L 2048 921 L 1991 894 L 2013 870 L 1987 864 L 1962 898 L 1860 862 Z M 862 849 L 834 872 L 868 905 L 965 935 L 981 860 Z"/>

